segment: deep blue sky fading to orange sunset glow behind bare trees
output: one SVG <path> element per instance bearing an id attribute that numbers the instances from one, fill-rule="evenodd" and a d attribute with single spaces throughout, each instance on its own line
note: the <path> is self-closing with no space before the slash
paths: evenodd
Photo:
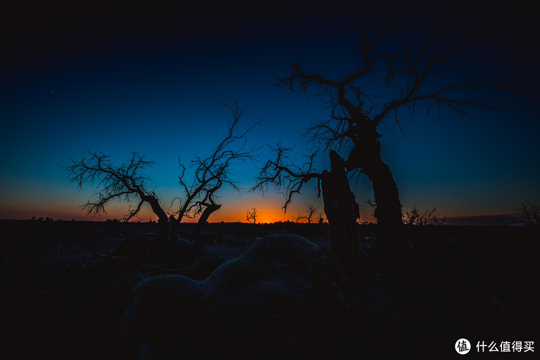
<path id="1" fill-rule="evenodd" d="M 227 130 L 230 113 L 216 101 L 225 96 L 246 106 L 242 128 L 262 120 L 248 144 L 281 140 L 295 145 L 301 158 L 308 145 L 299 135 L 327 112 L 309 94 L 273 89 L 295 61 L 325 76 L 352 70 L 359 29 L 368 2 L 272 2 L 200 5 L 149 5 L 144 2 L 77 2 L 70 5 L 18 2 L 2 15 L 0 70 L 0 219 L 49 216 L 64 220 L 121 218 L 126 203 L 111 203 L 105 218 L 89 218 L 79 206 L 96 191 L 69 186 L 62 166 L 87 150 L 129 159 L 146 155 L 156 194 L 164 209 L 183 196 L 178 159 L 210 154 Z M 534 46 L 538 25 L 525 2 L 512 8 L 482 5 L 452 8 L 426 3 L 387 2 L 398 25 L 381 46 L 399 49 L 419 40 L 448 18 L 456 31 L 480 19 L 487 32 L 499 31 L 478 50 L 471 68 L 478 77 L 540 79 Z M 264 6 L 261 8 L 260 6 Z M 511 108 L 538 108 L 538 99 L 512 98 Z M 419 115 L 399 131 L 384 131 L 382 155 L 392 169 L 403 206 L 440 210 L 465 218 L 511 213 L 521 202 L 540 204 L 540 119 L 527 113 L 472 110 L 474 119 L 443 112 L 440 120 Z M 261 152 L 261 163 L 269 154 Z M 323 167 L 321 167 L 323 168 Z M 246 221 L 257 207 L 258 222 L 293 220 L 306 205 L 322 199 L 308 184 L 284 214 L 282 195 L 247 192 L 257 166 L 240 164 L 234 180 L 246 191 L 222 188 L 221 209 L 210 221 Z M 373 199 L 365 176 L 351 183 L 360 204 L 360 221 L 372 221 Z M 174 210 L 175 208 L 171 208 Z M 156 216 L 150 208 L 141 220 Z"/>

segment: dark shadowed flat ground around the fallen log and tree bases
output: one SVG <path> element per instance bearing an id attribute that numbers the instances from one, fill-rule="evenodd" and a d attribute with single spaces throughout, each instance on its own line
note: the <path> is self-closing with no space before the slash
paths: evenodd
<path id="1" fill-rule="evenodd" d="M 0 221 L 0 358 L 136 358 L 122 316 L 136 279 L 159 271 L 125 258 L 137 258 L 129 239 L 154 232 L 155 223 Z M 537 229 L 413 228 L 407 263 L 382 255 L 372 226 L 359 232 L 367 270 L 350 284 L 348 308 L 328 305 L 287 264 L 267 262 L 210 304 L 157 311 L 149 329 L 155 358 L 450 358 L 460 356 L 460 338 L 471 343 L 468 357 L 479 355 L 478 342 L 496 343 L 505 358 L 540 351 Z M 230 260 L 274 233 L 329 247 L 319 224 L 210 223 L 200 241 Z M 506 354 L 503 341 L 534 341 L 535 351 Z M 485 357 L 497 357 L 488 350 Z"/>

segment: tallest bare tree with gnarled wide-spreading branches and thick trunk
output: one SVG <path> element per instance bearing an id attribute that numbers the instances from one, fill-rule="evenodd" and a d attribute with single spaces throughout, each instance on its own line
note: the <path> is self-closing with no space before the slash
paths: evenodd
<path id="1" fill-rule="evenodd" d="M 479 80 L 465 74 L 464 69 L 471 65 L 471 49 L 482 39 L 477 28 L 447 36 L 442 26 L 431 36 L 422 36 L 419 46 L 394 52 L 392 47 L 380 50 L 379 46 L 381 39 L 394 28 L 392 22 L 381 26 L 371 17 L 358 23 L 360 49 L 352 71 L 330 79 L 301 66 L 297 53 L 296 63 L 275 85 L 306 96 L 313 90 L 329 116 L 305 130 L 306 142 L 316 151 L 308 155 L 309 160 L 303 166 L 294 166 L 287 158 L 289 149 L 280 144 L 272 147 L 276 160 L 268 161 L 261 169 L 257 188 L 264 191 L 268 184 L 274 184 L 285 190 L 286 207 L 307 181 L 318 179 L 318 188 L 325 187 L 324 171 L 316 170 L 314 160 L 320 160 L 322 155 L 341 164 L 341 159 L 345 168 L 335 168 L 336 173 L 345 171 L 351 178 L 367 175 L 372 181 L 377 239 L 386 245 L 389 253 L 404 256 L 413 249 L 404 235 L 396 182 L 381 157 L 379 139 L 383 131 L 397 128 L 403 133 L 403 121 L 414 118 L 421 108 L 436 118 L 441 118 L 443 107 L 460 117 L 468 116 L 471 108 L 511 112 L 501 105 L 505 96 L 536 96 L 536 93 L 517 84 Z M 349 196 L 347 191 L 343 194 Z M 332 228 L 333 215 L 326 211 L 328 205 L 325 199 L 325 212 Z M 354 216 L 355 212 L 349 214 Z"/>

